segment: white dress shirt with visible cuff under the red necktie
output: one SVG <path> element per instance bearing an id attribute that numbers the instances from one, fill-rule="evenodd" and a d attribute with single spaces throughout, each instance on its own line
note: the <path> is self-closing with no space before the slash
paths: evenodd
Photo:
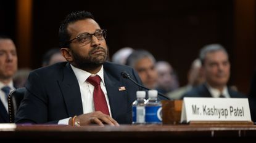
<path id="1" fill-rule="evenodd" d="M 101 70 L 97 72 L 97 74 L 91 74 L 89 72 L 83 71 L 82 69 L 75 68 L 70 64 L 71 68 L 73 69 L 73 72 L 75 73 L 76 79 L 78 80 L 78 84 L 80 87 L 81 92 L 81 99 L 82 99 L 82 105 L 83 105 L 83 114 L 87 114 L 90 112 L 94 112 L 94 101 L 93 101 L 93 90 L 94 86 L 91 85 L 91 83 L 87 82 L 86 80 L 90 76 L 99 75 L 101 77 L 101 89 L 105 95 L 105 99 L 107 101 L 107 106 L 109 108 L 109 114 L 111 115 L 110 105 L 109 105 L 109 98 L 107 97 L 107 89 L 105 88 L 104 83 L 104 69 L 103 66 L 101 67 Z M 70 118 L 65 118 L 63 120 L 59 120 L 58 124 L 64 124 L 68 125 L 68 120 Z"/>

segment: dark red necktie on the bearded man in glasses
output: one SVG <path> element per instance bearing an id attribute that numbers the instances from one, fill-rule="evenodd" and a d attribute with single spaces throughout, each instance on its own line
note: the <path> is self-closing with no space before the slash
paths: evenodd
<path id="1" fill-rule="evenodd" d="M 109 115 L 109 108 L 107 107 L 107 101 L 105 95 L 101 90 L 101 77 L 96 75 L 94 77 L 88 77 L 87 81 L 94 86 L 93 101 L 95 110 L 99 110 L 104 114 Z"/>

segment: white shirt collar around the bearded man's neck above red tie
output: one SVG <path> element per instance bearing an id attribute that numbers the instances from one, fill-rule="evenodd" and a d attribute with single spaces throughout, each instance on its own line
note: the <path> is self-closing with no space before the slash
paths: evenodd
<path id="1" fill-rule="evenodd" d="M 91 74 L 87 71 L 84 71 L 83 69 L 75 68 L 75 66 L 73 66 L 72 64 L 70 64 L 70 66 L 73 69 L 73 72 L 75 73 L 76 79 L 78 80 L 78 82 L 80 84 L 85 83 L 86 80 L 88 79 L 88 77 L 90 77 L 91 75 L 92 76 L 99 75 L 99 77 L 101 77 L 101 81 L 105 85 L 103 65 L 101 66 L 101 69 L 99 70 L 99 72 L 97 72 L 97 74 Z"/>

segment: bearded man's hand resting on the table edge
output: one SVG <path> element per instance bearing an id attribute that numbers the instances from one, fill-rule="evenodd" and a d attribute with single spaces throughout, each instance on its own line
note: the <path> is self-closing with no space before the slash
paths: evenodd
<path id="1" fill-rule="evenodd" d="M 111 118 L 109 115 L 103 114 L 101 111 L 79 115 L 75 117 L 74 122 L 79 122 L 80 126 L 85 126 L 93 123 L 96 123 L 100 126 L 104 126 L 104 123 L 110 126 L 119 126 L 119 124 L 117 123 L 117 121 L 114 120 L 114 118 Z M 68 124 L 72 125 L 72 118 L 70 118 Z"/>

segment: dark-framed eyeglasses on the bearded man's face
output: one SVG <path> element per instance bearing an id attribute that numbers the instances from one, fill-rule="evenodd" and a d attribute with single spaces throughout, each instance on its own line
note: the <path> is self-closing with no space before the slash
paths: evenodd
<path id="1" fill-rule="evenodd" d="M 80 34 L 78 36 L 76 36 L 74 39 L 68 41 L 68 43 L 71 43 L 72 41 L 74 41 L 75 39 L 77 39 L 78 42 L 80 42 L 80 44 L 88 44 L 89 42 L 91 42 L 91 39 L 93 39 L 93 35 L 99 40 L 102 41 L 105 39 L 105 37 L 107 37 L 107 30 L 105 29 L 99 29 L 97 30 L 95 33 L 93 34 L 89 34 L 89 33 L 83 33 Z"/>

